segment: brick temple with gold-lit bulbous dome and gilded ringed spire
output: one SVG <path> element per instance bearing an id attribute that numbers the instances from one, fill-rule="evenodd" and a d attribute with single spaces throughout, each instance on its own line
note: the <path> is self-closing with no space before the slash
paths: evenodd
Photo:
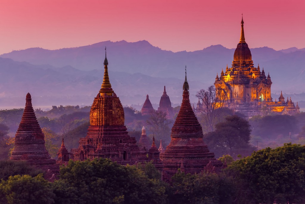
<path id="1" fill-rule="evenodd" d="M 78 148 L 71 149 L 70 158 L 80 161 L 110 158 L 120 164 L 134 164 L 148 161 L 146 154 L 145 148 L 136 145 L 135 137 L 128 135 L 123 106 L 109 82 L 105 55 L 104 78 L 91 106 L 87 136 L 80 139 Z"/>

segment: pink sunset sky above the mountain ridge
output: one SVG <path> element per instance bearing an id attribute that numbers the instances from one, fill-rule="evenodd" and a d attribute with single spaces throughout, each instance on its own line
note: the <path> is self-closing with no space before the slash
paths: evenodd
<path id="1" fill-rule="evenodd" d="M 106 40 L 147 40 L 175 52 L 235 48 L 241 13 L 250 48 L 303 48 L 304 9 L 303 0 L 1 0 L 0 54 Z"/>

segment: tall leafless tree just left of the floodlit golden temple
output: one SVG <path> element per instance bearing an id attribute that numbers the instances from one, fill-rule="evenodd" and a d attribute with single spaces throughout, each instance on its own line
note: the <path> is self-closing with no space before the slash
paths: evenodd
<path id="1" fill-rule="evenodd" d="M 203 113 L 208 132 L 214 131 L 215 119 L 221 115 L 224 102 L 228 99 L 228 92 L 228 88 L 215 86 L 197 92 L 196 97 L 202 101 L 202 108 L 197 111 Z"/>

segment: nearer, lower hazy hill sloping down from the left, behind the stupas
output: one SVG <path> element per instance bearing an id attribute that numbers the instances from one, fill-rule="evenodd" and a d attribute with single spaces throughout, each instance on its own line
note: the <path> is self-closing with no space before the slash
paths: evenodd
<path id="1" fill-rule="evenodd" d="M 71 66 L 32 65 L 1 57 L 0 68 L 0 109 L 23 107 L 27 92 L 31 93 L 35 107 L 91 105 L 103 78 L 103 67 L 81 71 Z M 146 94 L 152 103 L 158 104 L 164 85 L 173 103 L 180 104 L 182 100 L 183 80 L 180 79 L 113 71 L 109 71 L 109 78 L 123 105 L 142 105 Z M 207 86 L 198 81 L 189 83 L 190 87 Z M 194 102 L 196 91 L 195 88 L 191 91 Z"/>

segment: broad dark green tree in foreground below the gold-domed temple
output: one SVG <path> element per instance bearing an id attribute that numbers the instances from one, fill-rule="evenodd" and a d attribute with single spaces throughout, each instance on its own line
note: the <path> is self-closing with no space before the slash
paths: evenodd
<path id="1" fill-rule="evenodd" d="M 56 203 L 165 203 L 160 180 L 149 179 L 135 166 L 109 159 L 72 161 L 60 169 L 54 182 Z M 67 202 L 69 201 L 69 202 Z"/>

